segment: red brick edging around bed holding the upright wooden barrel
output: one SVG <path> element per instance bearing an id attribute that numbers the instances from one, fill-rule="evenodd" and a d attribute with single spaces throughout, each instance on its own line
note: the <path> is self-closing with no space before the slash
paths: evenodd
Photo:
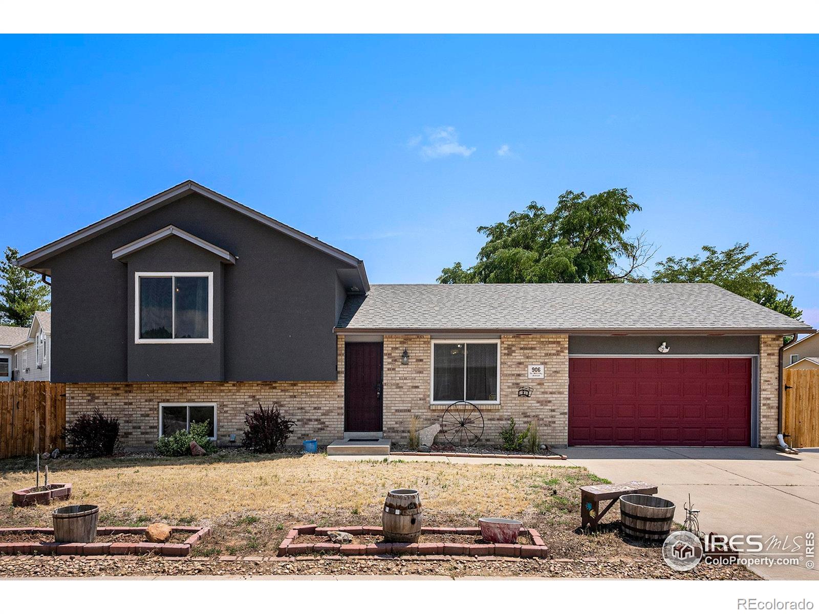
<path id="1" fill-rule="evenodd" d="M 465 555 L 468 557 L 518 557 L 518 558 L 545 558 L 549 548 L 541 538 L 541 534 L 534 529 L 521 529 L 523 535 L 528 535 L 532 545 L 523 544 L 450 544 L 446 542 L 425 544 L 293 544 L 299 535 L 327 535 L 331 530 L 341 530 L 351 535 L 383 535 L 380 526 L 294 526 L 278 546 L 278 556 L 288 557 L 296 554 L 342 554 L 346 556 L 374 556 L 383 554 L 397 554 L 409 556 L 425 556 L 435 554 Z M 481 535 L 477 526 L 425 526 L 421 529 L 423 535 Z M 441 538 L 443 539 L 443 538 Z"/>

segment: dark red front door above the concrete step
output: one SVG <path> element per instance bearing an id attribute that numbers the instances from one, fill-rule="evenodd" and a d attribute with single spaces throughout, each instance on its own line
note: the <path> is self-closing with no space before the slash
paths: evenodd
<path id="1" fill-rule="evenodd" d="M 344 430 L 382 430 L 382 343 L 348 343 L 344 358 Z"/>

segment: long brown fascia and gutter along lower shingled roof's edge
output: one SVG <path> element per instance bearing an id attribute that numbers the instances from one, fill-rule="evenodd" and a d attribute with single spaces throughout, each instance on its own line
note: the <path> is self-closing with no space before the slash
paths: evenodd
<path id="1" fill-rule="evenodd" d="M 790 335 L 792 328 L 354 328 L 334 327 L 337 335 L 379 334 L 379 335 L 432 335 L 432 334 L 501 334 L 501 335 Z M 798 332 L 816 332 L 799 330 Z"/>

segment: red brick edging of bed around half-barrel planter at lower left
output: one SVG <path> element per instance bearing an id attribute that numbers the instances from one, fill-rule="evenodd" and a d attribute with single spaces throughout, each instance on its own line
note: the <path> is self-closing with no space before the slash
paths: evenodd
<path id="1" fill-rule="evenodd" d="M 104 554 L 158 554 L 164 557 L 187 557 L 200 540 L 210 535 L 207 526 L 172 526 L 167 543 L 156 544 L 145 540 L 144 526 L 102 526 L 97 538 L 89 544 L 62 544 L 54 540 L 53 529 L 16 527 L 0 529 L 0 554 L 73 554 L 100 556 Z"/>

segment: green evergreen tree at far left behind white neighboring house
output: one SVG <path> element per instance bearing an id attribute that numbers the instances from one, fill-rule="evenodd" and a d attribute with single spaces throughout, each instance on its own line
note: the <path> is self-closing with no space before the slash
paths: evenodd
<path id="1" fill-rule="evenodd" d="M 14 264 L 17 255 L 16 249 L 7 247 L 0 260 L 0 323 L 29 326 L 35 311 L 51 307 L 51 292 L 37 273 Z"/>

